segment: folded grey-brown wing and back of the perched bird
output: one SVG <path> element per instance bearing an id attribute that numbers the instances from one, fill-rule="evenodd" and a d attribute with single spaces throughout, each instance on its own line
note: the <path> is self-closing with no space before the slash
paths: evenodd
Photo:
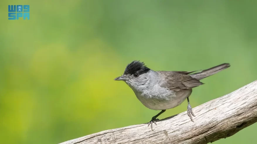
<path id="1" fill-rule="evenodd" d="M 195 88 L 203 83 L 183 72 L 156 71 L 159 74 L 159 85 L 170 90 L 186 90 Z M 190 72 L 187 72 L 190 73 Z"/>

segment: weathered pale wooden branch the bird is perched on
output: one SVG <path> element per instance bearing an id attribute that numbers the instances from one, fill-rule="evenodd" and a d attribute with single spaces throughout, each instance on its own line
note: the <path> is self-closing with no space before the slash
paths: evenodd
<path id="1" fill-rule="evenodd" d="M 153 126 L 138 124 L 94 133 L 61 144 L 203 144 L 234 135 L 257 121 L 257 80 Z"/>

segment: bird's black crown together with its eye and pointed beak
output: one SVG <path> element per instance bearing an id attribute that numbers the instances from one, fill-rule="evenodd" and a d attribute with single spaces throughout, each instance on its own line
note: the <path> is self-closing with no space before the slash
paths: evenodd
<path id="1" fill-rule="evenodd" d="M 135 77 L 138 77 L 139 75 L 141 75 L 143 73 L 147 73 L 149 70 L 150 70 L 150 68 L 148 68 L 144 64 L 144 62 L 135 60 L 127 65 L 122 76 L 115 78 L 114 80 L 127 80 L 127 78 L 125 78 L 124 75 L 133 75 L 134 74 Z M 136 76 L 135 74 L 137 74 L 138 76 Z"/>

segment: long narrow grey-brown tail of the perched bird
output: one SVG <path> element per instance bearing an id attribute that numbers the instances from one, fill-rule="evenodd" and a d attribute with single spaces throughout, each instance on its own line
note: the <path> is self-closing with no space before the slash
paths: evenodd
<path id="1" fill-rule="evenodd" d="M 224 64 L 221 64 L 221 65 L 218 65 L 218 66 L 215 66 L 215 67 L 203 70 L 203 71 L 201 71 L 199 73 L 191 74 L 190 76 L 192 78 L 201 80 L 201 79 L 206 78 L 208 76 L 214 75 L 215 73 L 218 73 L 218 72 L 220 72 L 220 71 L 222 71 L 222 70 L 224 70 L 224 69 L 226 69 L 228 67 L 230 67 L 230 64 L 229 63 L 224 63 Z"/>

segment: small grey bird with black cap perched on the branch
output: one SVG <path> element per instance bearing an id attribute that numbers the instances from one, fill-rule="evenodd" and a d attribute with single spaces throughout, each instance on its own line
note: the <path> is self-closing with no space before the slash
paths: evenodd
<path id="1" fill-rule="evenodd" d="M 192 116 L 195 115 L 188 98 L 192 93 L 192 88 L 204 84 L 199 80 L 214 75 L 229 66 L 230 64 L 224 63 L 199 73 L 193 73 L 196 71 L 153 71 L 144 62 L 132 61 L 125 68 L 123 75 L 114 80 L 125 81 L 135 92 L 137 99 L 147 108 L 161 110 L 148 123 L 148 126 L 151 124 L 153 130 L 152 125 L 156 124 L 156 120 L 158 120 L 156 118 L 160 114 L 164 113 L 166 109 L 180 105 L 185 99 L 188 101 L 187 114 L 193 121 Z"/>

